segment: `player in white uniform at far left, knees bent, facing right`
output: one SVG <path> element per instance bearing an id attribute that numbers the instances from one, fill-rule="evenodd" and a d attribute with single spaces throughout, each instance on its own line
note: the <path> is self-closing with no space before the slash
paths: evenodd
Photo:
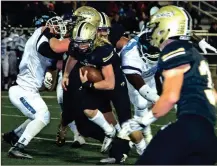
<path id="1" fill-rule="evenodd" d="M 13 146 L 8 154 L 15 158 L 32 158 L 23 149 L 50 122 L 50 113 L 39 94 L 39 88 L 46 68 L 52 65 L 54 59 L 61 59 L 62 54 L 52 51 L 44 35 L 46 31 L 57 37 L 64 34 L 66 29 L 62 19 L 55 16 L 47 21 L 46 26 L 35 30 L 25 46 L 16 80 L 18 85 L 9 89 L 10 101 L 28 118 L 15 130 L 3 134 L 3 139 Z"/>

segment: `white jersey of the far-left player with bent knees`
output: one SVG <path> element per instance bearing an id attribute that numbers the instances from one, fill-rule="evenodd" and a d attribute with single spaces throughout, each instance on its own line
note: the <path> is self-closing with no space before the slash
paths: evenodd
<path id="1" fill-rule="evenodd" d="M 48 41 L 48 39 L 45 36 L 41 36 L 41 28 L 38 28 L 26 42 L 19 66 L 20 72 L 17 76 L 17 84 L 24 89 L 38 91 L 43 84 L 47 67 L 52 65 L 52 59 L 44 57 L 37 52 L 39 45 L 44 41 Z"/>

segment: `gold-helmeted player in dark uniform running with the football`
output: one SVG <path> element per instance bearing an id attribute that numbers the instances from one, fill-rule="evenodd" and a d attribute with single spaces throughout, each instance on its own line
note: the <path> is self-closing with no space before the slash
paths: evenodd
<path id="1" fill-rule="evenodd" d="M 67 61 L 65 72 L 64 72 L 65 77 L 63 78 L 63 87 L 64 87 L 64 89 L 66 89 L 66 82 L 68 82 L 69 73 L 71 72 L 72 68 L 74 67 L 73 65 L 70 65 L 70 64 L 73 63 L 74 59 L 79 60 L 79 64 L 91 65 L 91 66 L 95 66 L 95 67 L 99 68 L 100 70 L 102 69 L 102 73 L 104 75 L 105 80 L 100 81 L 99 83 L 95 83 L 96 86 L 97 86 L 97 84 L 99 84 L 98 85 L 99 87 L 98 88 L 96 87 L 96 89 L 101 89 L 101 91 L 96 91 L 96 93 L 88 94 L 86 100 L 84 100 L 85 103 L 83 104 L 82 108 L 85 107 L 83 109 L 84 114 L 89 118 L 90 121 L 99 125 L 105 131 L 105 133 L 108 137 L 114 137 L 115 136 L 115 130 L 105 120 L 101 111 L 104 111 L 104 110 L 107 110 L 107 108 L 110 108 L 110 100 L 116 106 L 118 105 L 117 103 L 115 103 L 115 102 L 117 102 L 117 100 L 115 98 L 115 94 L 113 93 L 113 91 L 123 92 L 123 94 L 125 94 L 125 96 L 127 98 L 123 97 L 123 96 L 121 98 L 119 97 L 119 105 L 121 105 L 124 108 L 125 108 L 125 106 L 128 106 L 128 104 L 129 104 L 129 101 L 127 100 L 128 99 L 128 95 L 127 95 L 128 91 L 126 88 L 123 73 L 120 71 L 119 60 L 118 60 L 119 57 L 115 54 L 115 52 L 113 52 L 112 46 L 109 44 L 110 42 L 106 39 L 102 39 L 101 37 L 99 37 L 96 34 L 95 29 L 96 28 L 93 25 L 88 24 L 86 22 L 81 22 L 78 24 L 78 26 L 76 26 L 76 28 L 74 28 L 74 30 L 73 30 L 73 35 L 74 35 L 73 39 L 74 40 L 72 41 L 74 43 L 71 43 L 72 45 L 70 48 L 72 49 L 74 46 L 75 50 L 76 51 L 78 50 L 77 51 L 78 53 L 77 52 L 71 53 L 71 54 L 76 53 L 76 57 L 69 57 L 69 59 Z M 100 55 L 105 56 L 105 57 L 100 57 Z M 99 56 L 99 57 L 95 57 L 95 56 Z M 85 59 L 85 58 L 88 58 L 88 59 Z M 76 71 L 76 67 L 79 67 L 79 66 L 78 65 L 75 66 L 75 68 L 72 70 L 73 73 Z M 114 68 L 115 72 L 113 71 L 113 68 Z M 114 75 L 115 75 L 115 82 L 113 82 L 114 81 Z M 81 77 L 83 78 L 83 76 L 81 76 Z M 75 78 L 76 78 L 76 73 L 75 73 L 75 76 L 73 77 L 73 83 L 72 84 L 75 84 L 75 82 L 76 82 Z M 86 82 L 86 84 L 88 85 L 89 82 Z M 115 84 L 115 89 L 110 90 L 110 89 L 114 88 L 113 84 Z M 69 84 L 69 86 L 70 86 L 70 84 Z M 88 88 L 88 86 L 86 88 Z M 109 90 L 107 93 L 102 91 L 102 90 L 106 90 L 106 89 Z M 126 92 L 126 93 L 124 93 L 124 92 Z M 106 97 L 102 98 L 102 97 L 98 96 L 98 95 L 103 95 L 103 94 L 104 95 L 106 94 L 107 98 Z M 91 98 L 92 95 L 93 95 L 93 98 Z M 119 95 L 122 95 L 122 93 L 119 93 L 119 94 L 116 93 L 116 97 L 118 97 Z M 95 96 L 95 98 L 94 98 L 94 96 Z M 102 105 L 102 106 L 99 105 L 98 103 L 100 103 L 100 101 L 104 105 Z M 120 102 L 123 102 L 123 101 L 124 101 L 125 106 L 123 106 L 123 104 L 120 104 Z M 89 106 L 88 106 L 88 104 L 89 104 Z M 97 107 L 97 105 L 98 105 L 98 107 Z M 118 108 L 118 106 L 117 106 L 117 108 Z M 119 114 L 121 114 L 121 113 L 123 114 L 123 112 L 121 112 L 122 110 L 121 109 L 117 110 L 118 117 L 119 117 Z M 83 112 L 83 111 L 78 111 L 78 112 Z M 124 109 L 123 111 L 125 111 L 124 115 L 126 117 L 129 115 L 129 117 L 127 117 L 127 119 L 129 119 L 130 118 L 130 104 L 129 104 L 128 110 Z M 123 118 L 124 117 L 122 117 L 122 119 L 119 118 L 121 123 L 123 122 Z M 125 118 L 125 121 L 127 119 Z M 79 122 L 76 122 L 76 123 L 79 123 Z M 108 149 L 108 146 L 111 143 L 111 141 L 108 141 L 108 139 L 105 138 L 101 151 L 106 151 Z M 107 143 L 107 142 L 109 142 L 109 143 Z"/>

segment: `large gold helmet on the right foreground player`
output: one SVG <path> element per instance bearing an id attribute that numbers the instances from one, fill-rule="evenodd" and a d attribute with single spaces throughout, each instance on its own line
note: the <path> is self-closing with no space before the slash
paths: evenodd
<path id="1" fill-rule="evenodd" d="M 189 40 L 192 19 L 183 8 L 165 6 L 152 16 L 148 27 L 151 30 L 151 45 L 159 47 L 167 39 Z"/>

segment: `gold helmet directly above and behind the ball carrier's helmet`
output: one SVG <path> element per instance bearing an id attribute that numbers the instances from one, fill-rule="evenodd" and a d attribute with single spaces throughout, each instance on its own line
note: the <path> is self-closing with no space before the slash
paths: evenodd
<path id="1" fill-rule="evenodd" d="M 96 27 L 99 26 L 99 22 L 100 22 L 99 12 L 90 6 L 82 6 L 78 8 L 73 13 L 73 15 L 78 17 L 77 22 L 85 21 L 93 24 Z"/>

